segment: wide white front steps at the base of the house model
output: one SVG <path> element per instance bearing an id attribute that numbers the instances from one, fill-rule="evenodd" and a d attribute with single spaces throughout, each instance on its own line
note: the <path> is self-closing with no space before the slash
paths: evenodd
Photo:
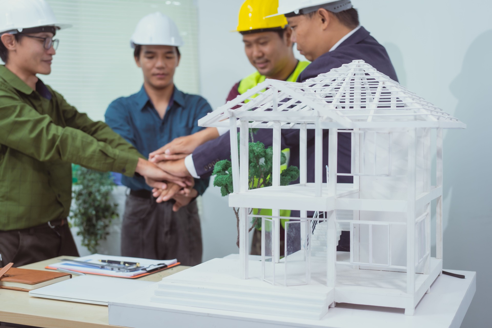
<path id="1" fill-rule="evenodd" d="M 252 288 L 163 279 L 154 291 L 151 301 L 318 320 L 328 311 L 327 296 L 286 290 L 282 286 Z"/>

